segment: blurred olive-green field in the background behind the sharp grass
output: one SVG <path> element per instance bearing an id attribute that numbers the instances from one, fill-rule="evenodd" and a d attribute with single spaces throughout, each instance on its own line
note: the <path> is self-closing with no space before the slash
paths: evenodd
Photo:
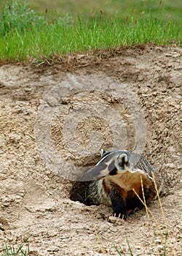
<path id="1" fill-rule="evenodd" d="M 7 0 L 0 1 L 0 9 L 7 3 Z M 82 12 L 84 17 L 92 17 L 93 13 L 102 10 L 109 15 L 118 12 L 119 17 L 140 15 L 141 12 L 152 12 L 156 18 L 181 18 L 181 0 L 28 0 L 28 5 L 37 14 L 48 12 L 58 12 L 59 15 L 76 16 Z"/>

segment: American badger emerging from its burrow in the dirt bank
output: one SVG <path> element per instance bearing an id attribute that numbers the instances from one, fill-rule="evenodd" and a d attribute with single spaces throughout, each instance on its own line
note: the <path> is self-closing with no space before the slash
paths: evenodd
<path id="1" fill-rule="evenodd" d="M 153 167 L 141 155 L 124 150 L 101 150 L 100 153 L 98 163 L 88 170 L 92 181 L 84 190 L 85 204 L 112 206 L 115 217 L 127 219 L 143 207 L 143 192 L 146 204 L 156 199 L 154 179 L 158 192 L 162 192 L 162 179 L 159 174 L 152 175 Z"/>

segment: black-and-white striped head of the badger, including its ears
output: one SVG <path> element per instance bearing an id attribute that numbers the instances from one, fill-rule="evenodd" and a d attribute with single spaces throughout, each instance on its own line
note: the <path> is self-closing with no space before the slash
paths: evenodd
<path id="1" fill-rule="evenodd" d="M 101 158 L 98 163 L 88 170 L 90 176 L 101 178 L 106 175 L 114 176 L 123 173 L 129 167 L 130 151 L 113 150 L 100 151 Z"/>

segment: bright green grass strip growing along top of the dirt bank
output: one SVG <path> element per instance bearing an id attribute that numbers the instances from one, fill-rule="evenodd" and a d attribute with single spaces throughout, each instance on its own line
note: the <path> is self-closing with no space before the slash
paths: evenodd
<path id="1" fill-rule="evenodd" d="M 181 20 L 156 18 L 152 12 L 121 18 L 100 12 L 82 15 L 36 15 L 25 1 L 5 4 L 0 16 L 1 60 L 51 58 L 85 50 L 156 43 L 181 45 Z"/>

